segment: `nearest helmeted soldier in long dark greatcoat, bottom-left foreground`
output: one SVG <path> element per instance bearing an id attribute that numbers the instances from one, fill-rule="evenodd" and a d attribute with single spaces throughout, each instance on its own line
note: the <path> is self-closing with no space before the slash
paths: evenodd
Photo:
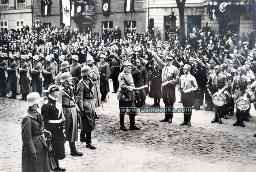
<path id="1" fill-rule="evenodd" d="M 45 140 L 51 133 L 44 129 L 43 117 L 37 112 L 42 100 L 37 92 L 27 95 L 29 108 L 21 123 L 22 172 L 50 172 L 57 167 Z"/>

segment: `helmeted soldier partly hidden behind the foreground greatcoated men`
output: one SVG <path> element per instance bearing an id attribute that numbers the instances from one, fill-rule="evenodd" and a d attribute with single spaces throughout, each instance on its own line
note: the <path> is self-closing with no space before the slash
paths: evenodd
<path id="1" fill-rule="evenodd" d="M 72 55 L 71 57 L 72 59 L 72 65 L 71 65 L 71 68 L 70 68 L 70 73 L 71 73 L 71 76 L 74 77 L 72 79 L 72 82 L 73 84 L 75 85 L 75 88 L 77 87 L 77 84 L 78 84 L 78 81 L 82 78 L 81 77 L 81 69 L 82 69 L 82 66 L 80 63 L 78 63 L 78 56 L 77 55 Z"/>

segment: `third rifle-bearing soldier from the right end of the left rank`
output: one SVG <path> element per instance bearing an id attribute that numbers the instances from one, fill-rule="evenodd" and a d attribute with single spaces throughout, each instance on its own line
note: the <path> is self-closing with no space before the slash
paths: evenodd
<path id="1" fill-rule="evenodd" d="M 19 100 L 27 101 L 26 97 L 29 94 L 29 79 L 27 78 L 27 72 L 29 70 L 29 64 L 26 62 L 26 58 L 24 55 L 20 55 L 21 58 L 21 68 L 18 65 L 18 71 L 20 77 L 20 93 L 22 94 L 22 98 Z"/>

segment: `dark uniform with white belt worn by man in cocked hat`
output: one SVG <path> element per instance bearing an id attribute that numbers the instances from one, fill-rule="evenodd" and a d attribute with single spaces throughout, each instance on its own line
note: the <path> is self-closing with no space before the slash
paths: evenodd
<path id="1" fill-rule="evenodd" d="M 62 112 L 62 105 L 50 96 L 41 108 L 44 117 L 45 129 L 52 133 L 52 147 L 57 159 L 65 158 L 65 137 L 63 133 L 63 121 L 65 117 Z"/>

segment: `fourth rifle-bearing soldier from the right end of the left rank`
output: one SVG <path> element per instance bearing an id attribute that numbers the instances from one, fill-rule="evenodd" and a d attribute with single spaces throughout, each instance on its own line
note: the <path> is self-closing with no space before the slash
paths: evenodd
<path id="1" fill-rule="evenodd" d="M 10 66 L 7 68 L 8 72 L 8 80 L 9 80 L 9 88 L 12 92 L 12 95 L 8 97 L 9 99 L 16 99 L 17 95 L 17 76 L 16 76 L 16 68 L 18 65 L 15 62 L 14 55 L 9 55 L 10 57 Z"/>

